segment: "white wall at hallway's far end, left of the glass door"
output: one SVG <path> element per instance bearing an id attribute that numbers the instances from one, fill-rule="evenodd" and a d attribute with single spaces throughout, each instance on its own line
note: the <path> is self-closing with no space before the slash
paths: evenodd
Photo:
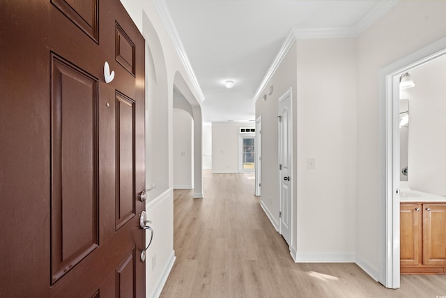
<path id="1" fill-rule="evenodd" d="M 255 123 L 212 123 L 212 172 L 238 173 L 240 128 L 255 128 Z"/>

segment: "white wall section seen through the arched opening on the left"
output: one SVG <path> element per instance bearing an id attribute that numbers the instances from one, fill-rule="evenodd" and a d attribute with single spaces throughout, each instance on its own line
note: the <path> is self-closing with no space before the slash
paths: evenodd
<path id="1" fill-rule="evenodd" d="M 192 189 L 193 129 L 192 116 L 184 110 L 174 109 L 174 188 Z"/>

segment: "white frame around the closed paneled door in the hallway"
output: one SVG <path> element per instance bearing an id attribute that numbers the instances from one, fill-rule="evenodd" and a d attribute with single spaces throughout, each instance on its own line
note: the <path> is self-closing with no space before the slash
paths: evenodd
<path id="1" fill-rule="evenodd" d="M 294 198 L 294 188 L 293 188 L 293 184 L 294 184 L 294 175 L 293 175 L 293 89 L 290 87 L 285 93 L 284 95 L 279 97 L 279 100 L 277 100 L 277 114 L 280 113 L 280 103 L 282 102 L 282 100 L 284 100 L 285 98 L 289 97 L 290 98 L 290 113 L 289 113 L 289 140 L 288 140 L 288 146 L 289 146 L 289 164 L 290 164 L 290 176 L 291 176 L 291 182 L 289 184 L 290 187 L 290 193 L 291 193 L 291 198 L 290 198 L 290 236 L 289 236 L 289 249 L 291 251 L 291 247 L 293 246 L 293 208 L 294 208 L 294 204 L 293 204 L 293 198 Z M 281 114 L 279 114 L 277 117 L 279 118 L 280 116 L 282 116 Z M 280 124 L 277 125 L 277 142 L 279 145 L 279 150 L 278 150 L 278 154 L 277 154 L 277 161 L 280 161 L 280 155 L 281 153 L 281 147 L 282 144 L 280 143 Z M 279 179 L 279 211 L 283 211 L 283 204 L 282 204 L 282 188 L 280 187 L 280 183 L 282 181 L 282 177 L 281 177 L 281 172 L 279 170 L 279 163 L 277 163 L 277 177 Z M 279 233 L 282 234 L 282 218 L 279 218 Z"/>

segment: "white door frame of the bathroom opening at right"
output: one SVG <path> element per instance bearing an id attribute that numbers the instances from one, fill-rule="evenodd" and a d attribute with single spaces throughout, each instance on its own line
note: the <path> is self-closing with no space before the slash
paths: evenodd
<path id="1" fill-rule="evenodd" d="M 446 54 L 446 38 L 379 71 L 379 282 L 386 288 L 400 288 L 399 76 L 443 54 Z"/>

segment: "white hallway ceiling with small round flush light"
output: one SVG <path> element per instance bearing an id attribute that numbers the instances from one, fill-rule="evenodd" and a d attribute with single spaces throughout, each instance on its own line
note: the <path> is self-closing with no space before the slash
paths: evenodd
<path id="1" fill-rule="evenodd" d="M 254 120 L 254 94 L 291 30 L 355 36 L 397 2 L 164 1 L 205 99 L 203 121 Z M 234 87 L 226 89 L 225 80 L 233 80 Z"/>

